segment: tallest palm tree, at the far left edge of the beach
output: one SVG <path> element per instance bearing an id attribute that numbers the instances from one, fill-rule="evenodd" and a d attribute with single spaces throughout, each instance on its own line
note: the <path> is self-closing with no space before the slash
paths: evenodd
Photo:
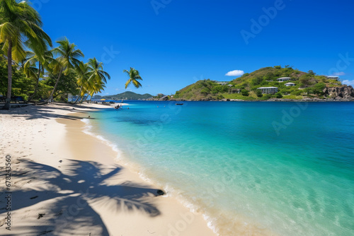
<path id="1" fill-rule="evenodd" d="M 10 108 L 12 87 L 12 62 L 25 59 L 24 42 L 28 40 L 35 46 L 35 53 L 42 54 L 52 40 L 42 30 L 40 15 L 27 1 L 0 0 L 0 43 L 1 50 L 7 53 L 8 88 L 3 109 Z"/>

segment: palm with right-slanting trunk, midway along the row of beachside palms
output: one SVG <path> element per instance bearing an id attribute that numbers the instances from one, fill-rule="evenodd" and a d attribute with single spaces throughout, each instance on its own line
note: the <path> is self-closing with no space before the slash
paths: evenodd
<path id="1" fill-rule="evenodd" d="M 76 45 L 74 45 L 74 43 L 70 43 L 67 37 L 65 37 L 64 40 L 57 41 L 57 43 L 59 44 L 59 47 L 53 49 L 52 52 L 59 57 L 56 58 L 56 63 L 52 64 L 52 73 L 59 73 L 59 75 L 52 93 L 50 93 L 48 101 L 55 93 L 62 73 L 67 75 L 70 70 L 74 70 L 75 67 L 80 64 L 79 57 L 84 57 L 84 54 L 81 52 L 81 50 L 75 49 Z"/>

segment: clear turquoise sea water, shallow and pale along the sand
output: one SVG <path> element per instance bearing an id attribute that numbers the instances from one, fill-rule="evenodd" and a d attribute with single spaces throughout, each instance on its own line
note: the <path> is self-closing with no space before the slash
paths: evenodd
<path id="1" fill-rule="evenodd" d="M 354 102 L 129 102 L 119 158 L 221 235 L 354 235 Z"/>

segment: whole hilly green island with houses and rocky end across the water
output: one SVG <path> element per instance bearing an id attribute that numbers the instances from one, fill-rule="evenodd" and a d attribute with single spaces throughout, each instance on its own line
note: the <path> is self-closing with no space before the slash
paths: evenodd
<path id="1" fill-rule="evenodd" d="M 164 100 L 354 100 L 354 90 L 342 85 L 338 76 L 273 66 L 232 81 L 197 81 Z"/>

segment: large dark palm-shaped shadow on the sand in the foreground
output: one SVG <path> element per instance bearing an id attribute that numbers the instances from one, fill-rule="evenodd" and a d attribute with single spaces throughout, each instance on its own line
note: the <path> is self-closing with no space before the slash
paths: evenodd
<path id="1" fill-rule="evenodd" d="M 11 210 L 16 212 L 42 201 L 46 201 L 47 207 L 45 212 L 38 212 L 45 213 L 43 217 L 46 223 L 41 225 L 38 224 L 40 219 L 32 219 L 36 221 L 34 225 L 17 224 L 16 227 L 21 228 L 19 232 L 30 235 L 109 235 L 101 216 L 92 208 L 92 204 L 115 212 L 138 211 L 149 217 L 160 215 L 159 209 L 152 203 L 152 196 L 159 196 L 161 190 L 132 182 L 107 184 L 106 180 L 120 175 L 120 167 L 107 171 L 103 165 L 96 162 L 64 160 L 64 163 L 69 162 L 63 166 L 64 174 L 49 165 L 28 160 L 22 162 L 25 171 L 13 171 L 13 179 L 25 175 L 24 173 L 33 173 L 40 185 L 33 189 L 13 191 Z M 4 209 L 0 210 L 0 213 L 4 212 Z"/>

